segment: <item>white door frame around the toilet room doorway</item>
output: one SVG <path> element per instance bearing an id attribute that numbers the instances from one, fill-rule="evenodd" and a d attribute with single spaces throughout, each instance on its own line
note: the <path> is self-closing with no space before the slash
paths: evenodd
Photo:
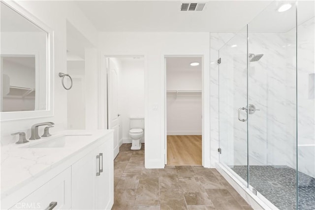
<path id="1" fill-rule="evenodd" d="M 109 58 L 144 58 L 144 119 L 148 115 L 148 55 L 145 53 L 131 53 L 131 54 L 110 54 L 100 52 L 99 54 L 99 72 L 98 72 L 98 129 L 108 129 L 108 113 L 110 112 L 108 106 L 108 63 Z M 147 120 L 144 120 L 144 129 L 147 127 Z M 146 141 L 146 132 L 144 132 L 144 141 Z M 118 140 L 120 144 L 120 139 Z"/>

